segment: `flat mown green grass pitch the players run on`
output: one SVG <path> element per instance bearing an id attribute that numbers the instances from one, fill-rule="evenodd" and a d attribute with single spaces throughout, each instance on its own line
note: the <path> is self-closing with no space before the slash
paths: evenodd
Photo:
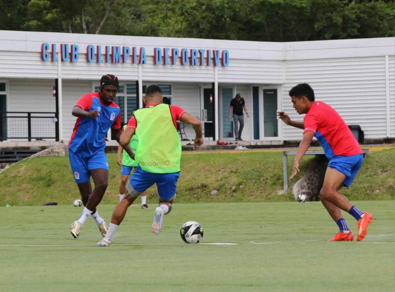
<path id="1" fill-rule="evenodd" d="M 132 206 L 109 248 L 89 218 L 69 233 L 82 208 L 0 207 L 1 291 L 393 291 L 394 201 L 358 201 L 373 213 L 362 242 L 337 232 L 319 202 L 175 203 L 159 235 L 154 204 Z M 113 205 L 101 205 L 110 220 Z M 345 218 L 356 229 L 350 215 Z M 201 223 L 201 244 L 184 244 L 182 223 Z M 237 243 L 237 245 L 206 245 Z"/>

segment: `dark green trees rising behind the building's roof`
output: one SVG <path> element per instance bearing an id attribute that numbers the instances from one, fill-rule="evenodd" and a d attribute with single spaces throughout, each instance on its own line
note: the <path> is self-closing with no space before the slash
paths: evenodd
<path id="1" fill-rule="evenodd" d="M 251 41 L 394 36 L 393 1 L 0 0 L 0 29 Z"/>

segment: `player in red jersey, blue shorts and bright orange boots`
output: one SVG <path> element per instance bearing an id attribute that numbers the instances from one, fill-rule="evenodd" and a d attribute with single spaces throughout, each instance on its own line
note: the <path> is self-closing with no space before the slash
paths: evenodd
<path id="1" fill-rule="evenodd" d="M 347 211 L 358 221 L 357 240 L 360 241 L 366 236 L 373 215 L 352 205 L 343 194 L 339 193 L 339 189 L 342 186 L 349 187 L 361 168 L 363 159 L 361 147 L 337 111 L 324 102 L 315 101 L 314 91 L 310 85 L 298 84 L 289 91 L 289 96 L 293 108 L 300 115 L 306 114 L 303 122 L 297 122 L 290 120 L 283 111 L 278 112 L 278 117 L 285 124 L 304 129 L 289 179 L 300 172 L 299 162 L 309 149 L 313 137 L 316 137 L 329 159 L 320 199 L 340 229 L 330 241 L 354 239 L 340 209 Z"/>

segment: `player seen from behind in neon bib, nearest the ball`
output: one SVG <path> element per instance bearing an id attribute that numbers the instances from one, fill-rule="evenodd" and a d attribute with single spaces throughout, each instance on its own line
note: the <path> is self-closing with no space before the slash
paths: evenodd
<path id="1" fill-rule="evenodd" d="M 120 144 L 138 166 L 126 185 L 125 196 L 114 209 L 106 236 L 97 246 L 111 244 L 128 207 L 155 183 L 159 206 L 155 209 L 152 232 L 158 234 L 161 231 L 163 216 L 172 208 L 180 172 L 181 142 L 177 132 L 177 120 L 193 126 L 195 148 L 203 145 L 201 121 L 178 106 L 163 104 L 162 91 L 158 86 L 147 87 L 143 100 L 145 108 L 132 115 L 120 139 Z M 128 147 L 134 135 L 138 137 L 135 153 Z"/>

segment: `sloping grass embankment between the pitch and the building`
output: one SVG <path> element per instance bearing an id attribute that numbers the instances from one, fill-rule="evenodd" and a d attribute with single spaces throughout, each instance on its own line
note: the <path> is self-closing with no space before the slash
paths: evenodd
<path id="1" fill-rule="evenodd" d="M 303 159 L 302 174 L 312 158 Z M 109 187 L 103 203 L 113 204 L 118 199 L 121 168 L 115 154 L 109 154 L 108 160 Z M 288 161 L 288 173 L 292 162 L 293 157 Z M 283 183 L 281 151 L 184 153 L 177 202 L 289 201 L 293 200 L 291 186 L 302 174 L 290 183 L 286 194 L 278 195 Z M 214 189 L 218 194 L 211 195 Z M 149 190 L 148 203 L 157 201 L 155 191 Z M 351 188 L 343 191 L 351 200 L 395 198 L 395 149 L 371 152 Z M 78 197 L 68 157 L 32 158 L 0 173 L 0 206 L 41 205 L 48 201 L 70 204 Z"/>

